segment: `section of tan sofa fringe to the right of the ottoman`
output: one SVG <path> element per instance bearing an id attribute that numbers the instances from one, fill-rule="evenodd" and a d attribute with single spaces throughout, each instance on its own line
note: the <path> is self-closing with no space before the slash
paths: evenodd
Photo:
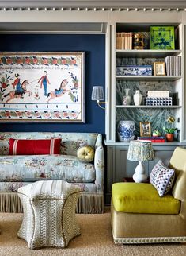
<path id="1" fill-rule="evenodd" d="M 103 213 L 104 194 L 103 193 L 82 193 L 78 199 L 76 213 Z"/>

